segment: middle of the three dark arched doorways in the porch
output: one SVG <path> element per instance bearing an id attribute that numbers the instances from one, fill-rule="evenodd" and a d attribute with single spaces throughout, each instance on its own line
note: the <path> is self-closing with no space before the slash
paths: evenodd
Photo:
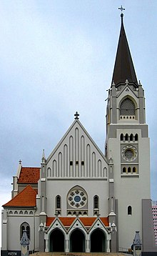
<path id="1" fill-rule="evenodd" d="M 85 237 L 81 230 L 74 230 L 70 238 L 71 252 L 85 252 Z"/>

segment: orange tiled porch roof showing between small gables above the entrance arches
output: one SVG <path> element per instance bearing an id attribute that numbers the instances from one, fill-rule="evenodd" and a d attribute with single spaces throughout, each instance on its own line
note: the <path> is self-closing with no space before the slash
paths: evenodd
<path id="1" fill-rule="evenodd" d="M 47 217 L 46 227 L 49 227 L 54 219 L 55 217 Z M 75 219 L 76 217 L 59 217 L 59 220 L 61 220 L 65 227 L 70 227 Z M 80 217 L 79 219 L 85 227 L 91 227 L 93 222 L 96 220 L 96 217 Z M 108 217 L 101 217 L 100 219 L 106 227 L 109 226 Z"/>

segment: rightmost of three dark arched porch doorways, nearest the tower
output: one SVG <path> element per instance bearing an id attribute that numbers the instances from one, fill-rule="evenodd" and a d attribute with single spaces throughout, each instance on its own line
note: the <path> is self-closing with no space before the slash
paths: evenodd
<path id="1" fill-rule="evenodd" d="M 91 233 L 91 252 L 106 252 L 106 237 L 102 230 Z"/>

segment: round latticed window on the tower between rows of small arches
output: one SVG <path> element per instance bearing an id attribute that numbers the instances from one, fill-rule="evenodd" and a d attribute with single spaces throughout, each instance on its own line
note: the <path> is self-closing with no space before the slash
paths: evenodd
<path id="1" fill-rule="evenodd" d="M 136 159 L 138 151 L 136 147 L 133 147 L 132 145 L 126 145 L 125 147 L 123 147 L 121 154 L 123 159 L 125 159 L 128 162 L 131 162 Z"/>

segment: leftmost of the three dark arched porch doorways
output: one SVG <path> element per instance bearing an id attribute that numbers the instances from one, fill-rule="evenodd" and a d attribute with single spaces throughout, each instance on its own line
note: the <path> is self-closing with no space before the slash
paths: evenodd
<path id="1" fill-rule="evenodd" d="M 50 252 L 64 252 L 64 233 L 61 230 L 51 232 Z"/>

